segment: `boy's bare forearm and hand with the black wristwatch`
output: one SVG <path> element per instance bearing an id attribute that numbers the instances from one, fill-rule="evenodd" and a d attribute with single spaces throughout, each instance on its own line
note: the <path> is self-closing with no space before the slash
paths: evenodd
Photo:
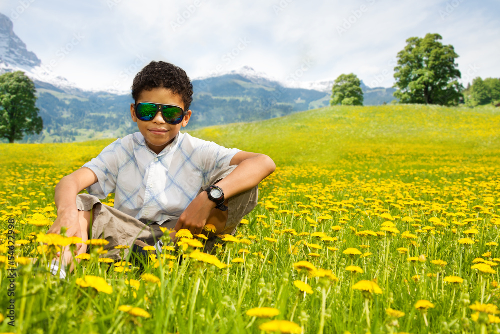
<path id="1" fill-rule="evenodd" d="M 229 164 L 237 166 L 229 175 L 217 182 L 217 186 L 224 192 L 225 199 L 255 187 L 276 168 L 268 156 L 244 151 L 236 153 Z M 208 199 L 206 191 L 202 191 L 182 212 L 175 230 L 185 228 L 191 233 L 199 234 L 213 208 L 215 203 Z"/>

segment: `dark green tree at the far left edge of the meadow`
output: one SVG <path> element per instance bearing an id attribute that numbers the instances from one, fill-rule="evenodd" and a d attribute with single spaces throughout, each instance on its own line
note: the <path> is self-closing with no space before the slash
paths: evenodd
<path id="1" fill-rule="evenodd" d="M 0 76 L 0 138 L 9 143 L 23 134 L 39 134 L 43 128 L 33 82 L 21 71 Z"/>

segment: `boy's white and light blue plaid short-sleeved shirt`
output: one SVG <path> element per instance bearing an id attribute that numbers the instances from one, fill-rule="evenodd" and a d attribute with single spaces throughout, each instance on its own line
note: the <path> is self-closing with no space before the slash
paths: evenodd
<path id="1" fill-rule="evenodd" d="M 98 179 L 86 190 L 100 199 L 114 192 L 114 208 L 143 222 L 162 224 L 178 218 L 210 175 L 229 166 L 237 152 L 178 133 L 156 155 L 135 132 L 83 165 Z"/>

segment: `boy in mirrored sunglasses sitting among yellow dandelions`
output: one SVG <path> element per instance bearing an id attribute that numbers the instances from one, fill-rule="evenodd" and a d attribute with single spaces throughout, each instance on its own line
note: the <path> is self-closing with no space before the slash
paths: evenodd
<path id="1" fill-rule="evenodd" d="M 114 246 L 153 245 L 163 234 L 159 226 L 199 234 L 211 224 L 216 234 L 234 234 L 256 205 L 257 185 L 274 171 L 274 162 L 179 132 L 191 117 L 193 93 L 182 69 L 152 61 L 131 88 L 130 116 L 139 132 L 117 139 L 59 181 L 57 218 L 47 233 L 66 227 L 67 236 L 83 241 L 104 238 L 106 256 L 115 260 Z M 77 195 L 85 188 L 89 194 Z M 109 193 L 115 193 L 114 208 L 98 200 Z M 77 245 L 77 254 L 85 251 L 85 244 Z M 71 263 L 72 270 L 70 252 L 61 258 L 62 268 Z M 54 273 L 57 265 L 52 261 Z"/>

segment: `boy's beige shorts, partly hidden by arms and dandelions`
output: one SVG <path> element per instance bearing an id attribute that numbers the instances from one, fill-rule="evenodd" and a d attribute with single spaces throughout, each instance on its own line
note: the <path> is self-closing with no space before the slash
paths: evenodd
<path id="1" fill-rule="evenodd" d="M 204 191 L 208 186 L 223 179 L 236 166 L 228 166 L 222 169 L 219 173 L 213 175 L 208 183 L 203 185 L 198 194 Z M 239 193 L 229 198 L 228 201 L 228 217 L 224 230 L 220 234 L 234 234 L 236 227 L 241 219 L 250 212 L 257 204 L 258 188 L 254 188 Z M 76 207 L 80 211 L 90 211 L 93 209 L 91 239 L 105 239 L 109 243 L 104 247 L 108 252 L 105 257 L 119 260 L 119 249 L 114 249 L 117 245 L 128 245 L 130 248 L 133 242 L 141 240 L 148 245 L 154 243 L 163 235 L 159 226 L 173 229 L 177 223 L 177 219 L 171 219 L 161 225 L 149 223 L 131 217 L 123 212 L 102 204 L 99 199 L 89 194 L 79 194 L 76 196 Z M 207 243 L 213 243 L 213 240 L 207 240 Z M 210 247 L 211 248 L 211 247 Z M 128 251 L 125 250 L 125 256 Z"/>

